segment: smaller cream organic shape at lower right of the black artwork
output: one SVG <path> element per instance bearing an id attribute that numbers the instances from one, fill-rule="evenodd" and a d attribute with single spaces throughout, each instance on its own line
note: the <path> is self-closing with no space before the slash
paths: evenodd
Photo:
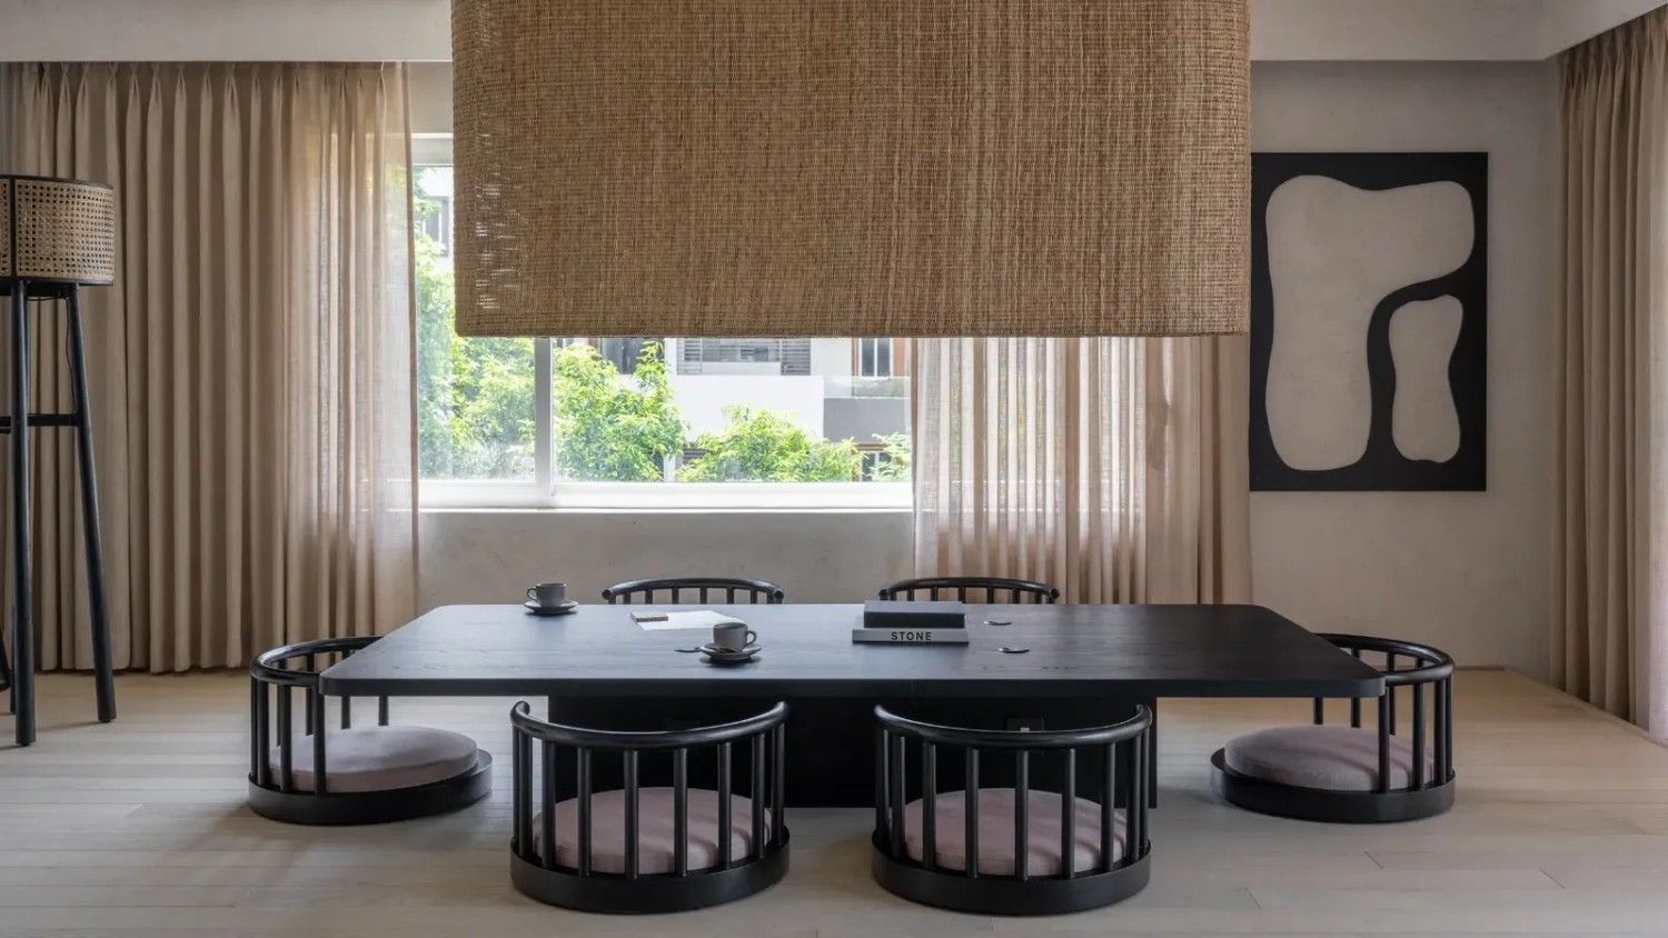
<path id="1" fill-rule="evenodd" d="M 1408 303 L 1389 317 L 1389 358 L 1396 365 L 1389 435 L 1409 460 L 1446 463 L 1460 452 L 1460 410 L 1448 362 L 1463 318 L 1465 307 L 1454 297 Z"/>

